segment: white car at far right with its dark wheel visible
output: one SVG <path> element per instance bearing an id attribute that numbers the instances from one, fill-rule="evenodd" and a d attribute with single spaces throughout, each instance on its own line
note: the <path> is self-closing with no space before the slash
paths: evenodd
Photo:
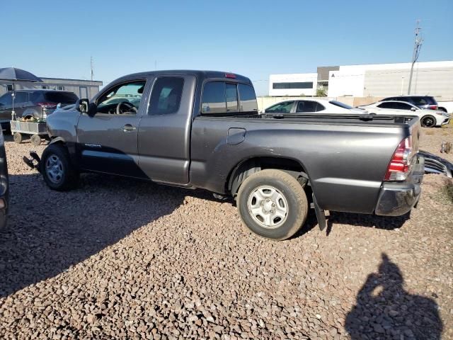
<path id="1" fill-rule="evenodd" d="M 420 119 L 420 124 L 425 128 L 449 123 L 448 113 L 418 108 L 418 106 L 404 101 L 378 101 L 377 103 L 359 106 L 359 108 L 365 108 L 369 113 L 378 115 L 416 115 Z"/>

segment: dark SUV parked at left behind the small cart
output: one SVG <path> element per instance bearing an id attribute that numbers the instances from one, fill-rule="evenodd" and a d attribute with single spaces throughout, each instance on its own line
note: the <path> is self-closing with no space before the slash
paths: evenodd
<path id="1" fill-rule="evenodd" d="M 45 119 L 50 115 L 57 105 L 67 106 L 76 103 L 79 99 L 74 93 L 69 91 L 55 90 L 18 90 L 14 92 L 14 112 L 16 117 L 27 118 L 35 117 Z M 12 92 L 8 92 L 0 97 L 0 123 L 2 128 L 9 128 L 13 111 Z"/>

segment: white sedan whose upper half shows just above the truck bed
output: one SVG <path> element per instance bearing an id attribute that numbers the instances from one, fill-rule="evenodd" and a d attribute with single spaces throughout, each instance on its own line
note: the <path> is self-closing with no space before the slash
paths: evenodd
<path id="1" fill-rule="evenodd" d="M 340 101 L 325 99 L 297 99 L 282 101 L 264 110 L 264 113 L 365 113 L 362 109 L 353 108 Z"/>

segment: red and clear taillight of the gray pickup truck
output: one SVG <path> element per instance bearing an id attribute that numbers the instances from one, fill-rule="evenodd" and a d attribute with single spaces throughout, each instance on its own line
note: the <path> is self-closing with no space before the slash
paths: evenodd
<path id="1" fill-rule="evenodd" d="M 413 154 L 412 136 L 409 136 L 404 138 L 396 148 L 384 176 L 384 181 L 404 181 L 411 171 Z"/>

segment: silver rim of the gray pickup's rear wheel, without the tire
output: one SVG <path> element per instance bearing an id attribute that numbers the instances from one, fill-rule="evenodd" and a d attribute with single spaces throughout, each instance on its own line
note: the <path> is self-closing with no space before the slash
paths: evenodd
<path id="1" fill-rule="evenodd" d="M 258 186 L 248 196 L 248 213 L 261 227 L 275 229 L 288 217 L 288 202 L 273 186 Z"/>

